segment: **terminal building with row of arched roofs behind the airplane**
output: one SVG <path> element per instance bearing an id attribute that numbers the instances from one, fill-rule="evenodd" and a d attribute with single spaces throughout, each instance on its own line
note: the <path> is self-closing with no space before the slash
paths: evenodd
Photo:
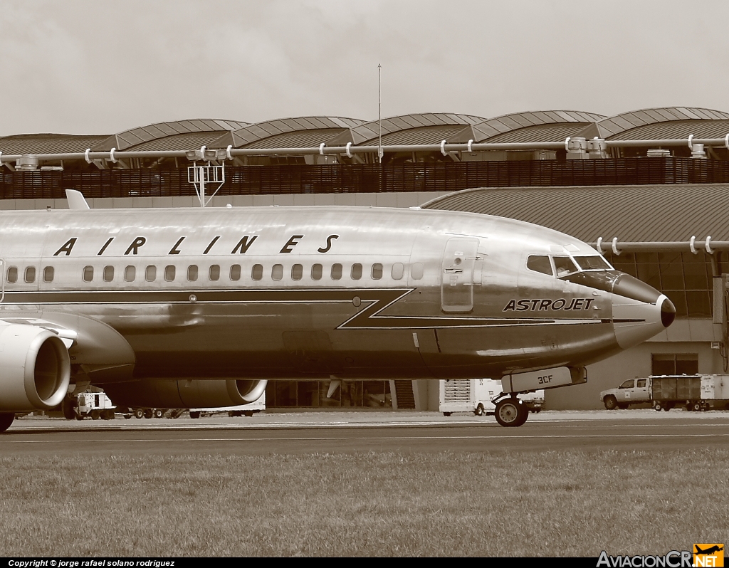
<path id="1" fill-rule="evenodd" d="M 98 136 L 4 136 L 0 209 L 61 209 L 69 188 L 95 208 L 199 206 L 188 179 L 198 162 L 225 165 L 211 206 L 424 206 L 512 217 L 600 246 L 615 268 L 671 298 L 677 320 L 668 330 L 590 365 L 587 384 L 547 391 L 547 408 L 602 408 L 599 392 L 626 378 L 728 368 L 729 260 L 711 248 L 729 241 L 727 112 L 181 120 Z M 439 385 L 354 381 L 329 390 L 328 379 L 272 382 L 267 403 L 437 410 Z"/>

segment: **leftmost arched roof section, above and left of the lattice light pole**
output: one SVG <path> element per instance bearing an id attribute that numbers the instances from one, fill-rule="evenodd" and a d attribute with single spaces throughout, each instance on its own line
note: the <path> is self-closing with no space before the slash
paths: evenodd
<path id="1" fill-rule="evenodd" d="M 234 131 L 248 125 L 248 122 L 238 120 L 177 120 L 175 122 L 157 122 L 147 126 L 140 126 L 128 131 L 108 136 L 106 140 L 93 147 L 95 152 L 108 152 L 112 148 L 117 150 L 138 149 L 146 142 L 165 139 L 170 136 L 187 133 L 217 132 L 220 136 L 225 131 Z M 194 148 L 187 147 L 186 149 Z M 155 148 L 157 149 L 157 148 Z M 176 149 L 166 148 L 165 149 Z"/>

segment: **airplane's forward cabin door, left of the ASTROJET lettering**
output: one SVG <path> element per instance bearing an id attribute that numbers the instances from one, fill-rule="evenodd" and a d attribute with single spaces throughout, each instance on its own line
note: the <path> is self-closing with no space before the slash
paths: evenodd
<path id="1" fill-rule="evenodd" d="M 464 314 L 473 310 L 477 250 L 477 238 L 451 238 L 445 244 L 440 271 L 440 307 L 443 311 Z"/>

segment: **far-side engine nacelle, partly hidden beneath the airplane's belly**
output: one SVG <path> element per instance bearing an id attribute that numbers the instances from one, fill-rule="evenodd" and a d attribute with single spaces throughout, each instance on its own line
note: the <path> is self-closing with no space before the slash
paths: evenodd
<path id="1" fill-rule="evenodd" d="M 115 405 L 151 408 L 220 408 L 240 406 L 258 400 L 265 392 L 265 380 L 144 379 L 104 385 Z"/>

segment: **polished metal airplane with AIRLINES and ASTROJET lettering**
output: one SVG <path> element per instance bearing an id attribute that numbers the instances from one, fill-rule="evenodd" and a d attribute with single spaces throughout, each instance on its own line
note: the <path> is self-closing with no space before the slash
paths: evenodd
<path id="1" fill-rule="evenodd" d="M 592 246 L 484 214 L 356 206 L 0 211 L 0 431 L 90 384 L 207 408 L 267 381 L 496 378 L 518 394 L 674 320 Z"/>

